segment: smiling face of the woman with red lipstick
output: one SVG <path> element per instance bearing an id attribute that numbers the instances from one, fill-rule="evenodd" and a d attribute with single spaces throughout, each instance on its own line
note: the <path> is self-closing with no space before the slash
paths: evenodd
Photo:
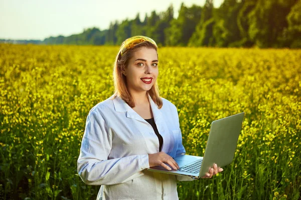
<path id="1" fill-rule="evenodd" d="M 125 67 L 126 82 L 132 92 L 149 90 L 157 80 L 158 56 L 154 48 L 140 47 Z"/>

